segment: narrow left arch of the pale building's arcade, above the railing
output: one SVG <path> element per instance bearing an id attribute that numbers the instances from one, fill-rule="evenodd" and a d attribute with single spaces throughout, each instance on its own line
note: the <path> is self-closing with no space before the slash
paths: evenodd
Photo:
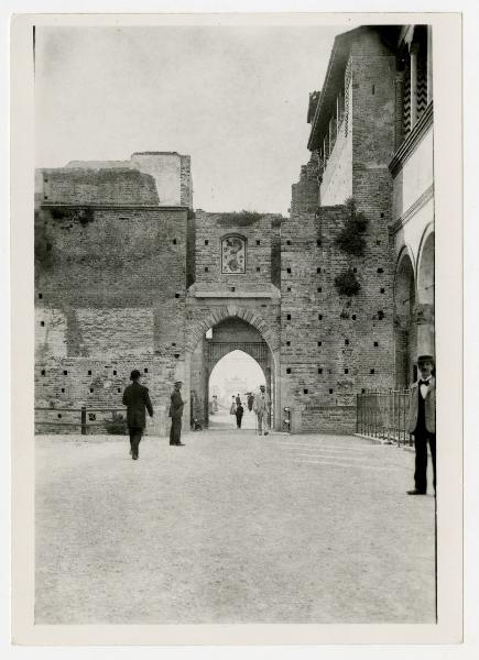
<path id="1" fill-rule="evenodd" d="M 407 387 L 414 378 L 416 337 L 414 326 L 415 286 L 411 258 L 404 254 L 398 266 L 394 287 L 394 351 L 396 387 Z"/>

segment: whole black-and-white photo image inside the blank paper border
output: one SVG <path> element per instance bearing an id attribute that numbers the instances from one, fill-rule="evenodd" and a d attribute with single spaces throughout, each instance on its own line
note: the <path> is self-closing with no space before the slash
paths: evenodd
<path id="1" fill-rule="evenodd" d="M 32 21 L 34 626 L 445 623 L 404 18 Z"/>

